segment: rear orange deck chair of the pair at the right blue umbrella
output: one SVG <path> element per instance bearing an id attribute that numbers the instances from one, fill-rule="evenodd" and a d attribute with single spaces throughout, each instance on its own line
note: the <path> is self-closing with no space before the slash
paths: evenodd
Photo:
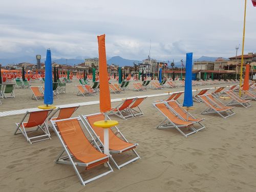
<path id="1" fill-rule="evenodd" d="M 194 116 L 192 116 L 190 113 L 188 113 L 187 111 L 185 111 L 184 109 L 181 108 L 180 104 L 175 101 L 175 100 L 171 100 L 171 101 L 165 101 L 166 104 L 168 104 L 168 106 L 170 107 L 171 110 L 173 110 L 174 113 L 176 113 L 176 115 L 178 115 L 182 120 L 184 121 L 191 121 L 194 123 L 198 123 L 199 127 L 196 128 L 194 126 L 194 129 L 198 132 L 202 129 L 205 128 L 205 126 L 201 123 L 202 120 L 204 119 L 197 119 Z M 188 114 L 187 114 L 188 113 Z"/>

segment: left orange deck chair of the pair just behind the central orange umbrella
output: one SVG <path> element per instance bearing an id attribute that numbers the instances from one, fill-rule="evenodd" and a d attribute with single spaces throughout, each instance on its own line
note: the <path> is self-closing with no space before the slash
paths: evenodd
<path id="1" fill-rule="evenodd" d="M 108 113 L 108 115 L 116 115 L 122 119 L 131 119 L 134 117 L 133 113 L 130 111 L 129 106 L 134 102 L 136 98 L 132 99 L 125 99 L 123 102 L 121 102 L 119 105 L 117 105 L 115 108 L 112 108 L 111 111 Z"/>

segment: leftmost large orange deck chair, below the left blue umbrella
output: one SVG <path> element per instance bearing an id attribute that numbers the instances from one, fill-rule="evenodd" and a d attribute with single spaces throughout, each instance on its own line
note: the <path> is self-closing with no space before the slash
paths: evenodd
<path id="1" fill-rule="evenodd" d="M 27 111 L 23 119 L 20 121 L 20 123 L 15 123 L 17 125 L 17 128 L 14 132 L 14 135 L 20 134 L 20 133 L 23 134 L 30 144 L 37 141 L 51 139 L 51 135 L 48 130 L 48 124 L 46 124 L 48 123 L 47 118 L 51 112 L 52 112 L 52 109 L 44 110 L 44 111 L 33 111 L 33 112 Z M 24 122 L 27 115 L 29 115 L 29 119 L 27 122 Z M 33 127 L 36 127 L 36 128 L 33 129 Z M 37 136 L 32 135 L 31 137 L 29 136 L 30 132 L 39 132 L 38 130 L 42 131 L 42 135 L 37 135 Z"/>

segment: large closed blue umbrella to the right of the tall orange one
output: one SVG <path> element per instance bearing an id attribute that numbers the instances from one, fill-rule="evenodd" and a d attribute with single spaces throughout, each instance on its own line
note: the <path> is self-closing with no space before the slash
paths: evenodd
<path id="1" fill-rule="evenodd" d="M 192 58 L 193 53 L 186 54 L 186 78 L 183 106 L 193 106 L 192 97 Z"/>

